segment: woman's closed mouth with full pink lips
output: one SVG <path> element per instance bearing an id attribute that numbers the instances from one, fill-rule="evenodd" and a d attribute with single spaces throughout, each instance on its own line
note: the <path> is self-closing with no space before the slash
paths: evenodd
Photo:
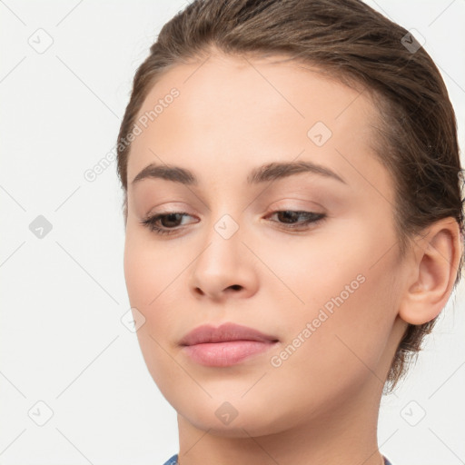
<path id="1" fill-rule="evenodd" d="M 203 325 L 186 334 L 180 341 L 184 353 L 192 361 L 205 366 L 227 367 L 236 365 L 278 343 L 275 336 L 234 323 L 218 328 Z"/>

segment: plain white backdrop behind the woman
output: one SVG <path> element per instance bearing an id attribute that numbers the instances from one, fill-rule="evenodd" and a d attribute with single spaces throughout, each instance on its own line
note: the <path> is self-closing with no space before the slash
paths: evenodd
<path id="1" fill-rule="evenodd" d="M 426 40 L 463 148 L 465 2 L 368 3 Z M 2 465 L 161 465 L 178 451 L 176 413 L 122 322 L 115 163 L 94 182 L 84 173 L 114 150 L 134 71 L 184 5 L 0 1 Z M 465 463 L 464 297 L 460 284 L 381 402 L 379 444 L 394 465 Z"/>

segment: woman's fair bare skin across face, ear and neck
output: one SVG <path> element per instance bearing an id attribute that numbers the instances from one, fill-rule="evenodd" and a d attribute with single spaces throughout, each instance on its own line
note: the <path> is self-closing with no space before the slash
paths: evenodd
<path id="1" fill-rule="evenodd" d="M 407 322 L 430 321 L 449 298 L 458 225 L 432 225 L 399 256 L 393 181 L 371 149 L 378 115 L 366 93 L 271 59 L 212 53 L 201 64 L 176 65 L 153 86 L 140 114 L 173 87 L 180 95 L 136 137 L 128 162 L 125 279 L 145 318 L 144 360 L 178 412 L 179 461 L 380 465 L 382 387 Z M 322 146 L 307 136 L 316 122 L 331 129 Z M 254 167 L 291 161 L 322 164 L 345 183 L 317 173 L 246 183 Z M 199 183 L 132 184 L 153 162 L 192 170 Z M 177 232 L 157 235 L 141 223 L 167 210 L 187 213 L 162 223 Z M 295 232 L 272 214 L 288 210 L 327 216 Z M 225 214 L 239 227 L 229 239 L 214 229 Z M 358 275 L 358 289 L 272 366 Z M 182 351 L 185 333 L 223 322 L 279 342 L 226 368 Z M 215 415 L 224 401 L 237 411 L 227 425 Z"/>

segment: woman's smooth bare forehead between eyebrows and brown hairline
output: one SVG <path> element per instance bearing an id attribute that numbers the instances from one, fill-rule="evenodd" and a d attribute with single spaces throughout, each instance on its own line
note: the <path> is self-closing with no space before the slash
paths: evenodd
<path id="1" fill-rule="evenodd" d="M 204 169 L 210 179 L 238 163 L 248 172 L 296 157 L 336 172 L 348 168 L 344 153 L 361 167 L 376 163 L 377 112 L 368 93 L 278 58 L 213 54 L 165 72 L 136 118 L 142 131 L 132 143 L 128 182 L 153 162 Z"/>

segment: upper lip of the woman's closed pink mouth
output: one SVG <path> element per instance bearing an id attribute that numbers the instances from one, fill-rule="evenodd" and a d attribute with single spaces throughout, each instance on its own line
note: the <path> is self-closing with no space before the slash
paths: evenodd
<path id="1" fill-rule="evenodd" d="M 254 330 L 253 328 L 229 322 L 223 323 L 217 328 L 209 324 L 198 326 L 193 331 L 185 334 L 180 344 L 194 345 L 225 341 L 275 342 L 278 341 L 278 339 L 272 335 L 263 334 L 261 331 Z"/>

